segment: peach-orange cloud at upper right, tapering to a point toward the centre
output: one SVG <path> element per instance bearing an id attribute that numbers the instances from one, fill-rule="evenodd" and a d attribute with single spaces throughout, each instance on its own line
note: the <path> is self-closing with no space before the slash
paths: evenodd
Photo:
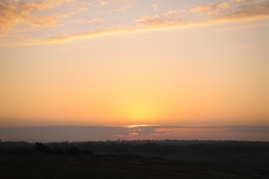
<path id="1" fill-rule="evenodd" d="M 181 13 L 179 13 L 181 12 Z M 252 19 L 269 18 L 269 3 L 247 3 L 245 5 L 232 6 L 227 2 L 210 4 L 207 6 L 196 6 L 186 11 L 187 13 L 198 13 L 201 19 L 184 20 L 184 11 L 170 11 L 155 16 L 144 16 L 136 20 L 137 23 L 151 28 L 183 25 L 203 25 L 206 23 L 219 23 L 225 21 L 248 21 Z"/>

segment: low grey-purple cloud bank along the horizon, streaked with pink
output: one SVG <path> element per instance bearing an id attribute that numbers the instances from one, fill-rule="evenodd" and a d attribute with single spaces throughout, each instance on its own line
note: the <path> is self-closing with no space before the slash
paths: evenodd
<path id="1" fill-rule="evenodd" d="M 60 142 L 89 140 L 269 140 L 269 126 L 51 126 L 0 128 L 3 141 Z"/>

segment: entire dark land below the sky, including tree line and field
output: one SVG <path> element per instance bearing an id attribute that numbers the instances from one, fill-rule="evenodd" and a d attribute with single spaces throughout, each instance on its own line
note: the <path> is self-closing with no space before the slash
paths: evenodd
<path id="1" fill-rule="evenodd" d="M 269 143 L 0 143 L 0 178 L 269 178 Z"/>

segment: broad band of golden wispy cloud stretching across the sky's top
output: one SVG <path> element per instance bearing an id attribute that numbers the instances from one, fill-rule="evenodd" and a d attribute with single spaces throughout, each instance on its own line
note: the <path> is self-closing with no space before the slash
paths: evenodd
<path id="1" fill-rule="evenodd" d="M 185 10 L 173 8 L 173 10 L 160 14 L 154 14 L 159 12 L 157 2 L 148 4 L 148 8 L 152 9 L 151 12 L 134 12 L 132 10 L 133 4 L 130 2 L 129 0 L 95 0 L 90 2 L 74 0 L 0 1 L 0 45 L 57 43 L 68 39 L 119 31 L 130 32 L 269 18 L 268 0 L 221 0 L 215 3 L 193 6 Z M 103 12 L 99 12 L 100 10 L 103 10 Z M 153 14 L 152 11 L 154 11 Z M 128 18 L 122 17 L 119 12 L 124 12 Z M 143 15 L 140 16 L 139 14 Z M 82 23 L 88 23 L 88 25 L 91 24 L 92 26 L 88 28 L 89 30 L 83 30 L 82 27 L 77 28 L 77 32 L 72 28 L 69 34 L 59 35 L 61 32 L 68 33 L 69 29 L 64 29 L 65 25 L 70 28 L 71 26 L 82 25 Z M 121 28 L 119 28 L 119 24 L 121 24 Z M 51 32 L 46 34 L 46 30 L 48 31 L 50 27 L 55 28 L 54 34 Z M 252 25 L 252 27 L 261 27 L 261 25 L 256 24 Z M 29 34 L 30 31 L 38 30 L 39 28 L 46 29 L 42 35 L 37 37 Z M 238 26 L 213 31 L 241 30 L 245 28 L 251 27 Z M 48 37 L 48 34 L 50 34 L 50 37 Z M 27 36 L 27 40 L 23 35 Z M 18 36 L 19 38 L 17 40 L 16 38 L 8 39 L 9 36 Z"/>

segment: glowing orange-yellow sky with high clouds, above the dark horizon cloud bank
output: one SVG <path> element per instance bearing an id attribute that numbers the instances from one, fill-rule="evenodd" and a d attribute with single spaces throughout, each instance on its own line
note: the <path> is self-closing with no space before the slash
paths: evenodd
<path id="1" fill-rule="evenodd" d="M 268 0 L 3 0 L 0 127 L 268 126 L 268 47 Z"/>

